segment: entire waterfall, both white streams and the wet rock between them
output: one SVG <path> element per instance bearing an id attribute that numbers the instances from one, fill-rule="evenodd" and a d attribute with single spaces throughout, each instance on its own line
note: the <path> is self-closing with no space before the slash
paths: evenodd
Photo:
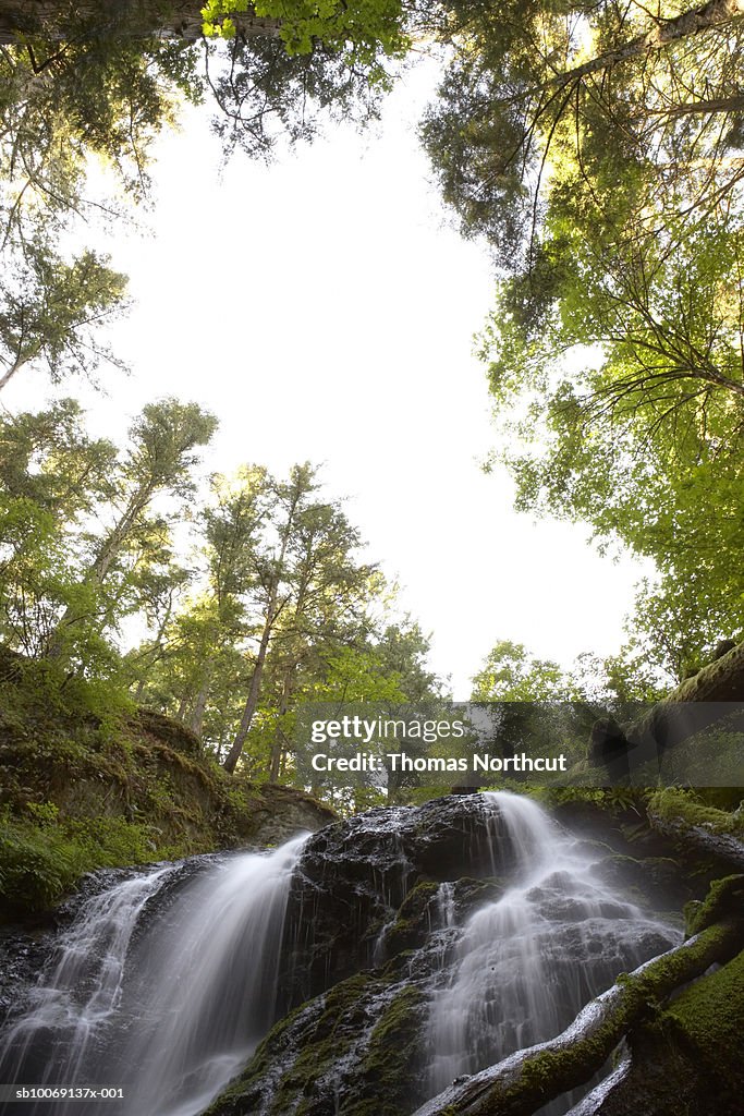
<path id="1" fill-rule="evenodd" d="M 620 972 L 679 937 L 605 882 L 606 847 L 505 791 L 375 810 L 305 840 L 96 877 L 4 1028 L 0 1083 L 123 1090 L 84 1106 L 91 1116 L 197 1116 L 284 1000 L 310 997 L 274 1036 L 245 1110 L 270 1110 L 284 1088 L 306 1096 L 293 1067 L 305 1059 L 309 1071 L 318 1049 L 308 1112 L 342 1113 L 347 1098 L 379 1099 L 369 1065 L 388 1058 L 386 1012 L 410 988 L 388 1022 L 404 1045 L 413 1040 L 400 1020 L 415 1027 L 422 1056 L 399 1072 L 400 1110 L 413 1110 L 454 1078 L 560 1032 Z M 341 989 L 338 1052 L 315 1030 L 331 987 Z M 6 1112 L 83 1107 L 39 1100 Z"/>

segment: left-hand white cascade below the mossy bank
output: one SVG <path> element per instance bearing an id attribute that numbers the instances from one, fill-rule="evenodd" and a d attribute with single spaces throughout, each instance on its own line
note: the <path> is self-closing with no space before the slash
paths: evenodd
<path id="1" fill-rule="evenodd" d="M 112 1116 L 194 1116 L 274 1019 L 292 870 L 269 855 L 168 865 L 88 899 L 7 1035 L 0 1080 L 120 1087 Z M 86 1112 L 93 1106 L 83 1106 Z M 73 1116 L 78 1103 L 23 1104 Z M 97 1110 L 97 1109 L 95 1109 Z"/>

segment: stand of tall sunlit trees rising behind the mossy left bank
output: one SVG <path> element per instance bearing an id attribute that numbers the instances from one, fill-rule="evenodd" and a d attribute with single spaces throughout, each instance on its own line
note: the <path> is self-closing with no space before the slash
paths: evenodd
<path id="1" fill-rule="evenodd" d="M 438 683 L 317 469 L 245 465 L 196 503 L 214 427 L 176 400 L 148 404 L 124 449 L 90 439 L 73 400 L 0 420 L 0 638 L 41 687 L 99 692 L 107 715 L 144 704 L 229 771 L 291 782 L 298 702 L 418 700 Z M 135 619 L 147 634 L 123 655 Z"/>

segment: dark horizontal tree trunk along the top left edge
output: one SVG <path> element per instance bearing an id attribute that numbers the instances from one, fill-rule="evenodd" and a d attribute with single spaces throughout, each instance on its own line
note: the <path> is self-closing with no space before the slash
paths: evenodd
<path id="1" fill-rule="evenodd" d="M 202 37 L 202 0 L 77 0 L 74 6 L 65 0 L 0 0 L 0 44 L 12 44 L 28 32 L 61 42 L 76 36 L 81 23 L 122 38 L 196 42 Z M 232 20 L 239 37 L 276 38 L 281 29 L 281 20 L 259 18 L 250 10 L 235 12 Z"/>

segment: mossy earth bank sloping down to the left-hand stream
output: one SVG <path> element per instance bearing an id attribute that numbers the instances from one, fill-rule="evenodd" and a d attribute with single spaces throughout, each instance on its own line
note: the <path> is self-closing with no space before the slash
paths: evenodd
<path id="1" fill-rule="evenodd" d="M 181 724 L 104 699 L 0 647 L 0 920 L 49 908 L 95 868 L 249 840 L 270 812 Z"/>

